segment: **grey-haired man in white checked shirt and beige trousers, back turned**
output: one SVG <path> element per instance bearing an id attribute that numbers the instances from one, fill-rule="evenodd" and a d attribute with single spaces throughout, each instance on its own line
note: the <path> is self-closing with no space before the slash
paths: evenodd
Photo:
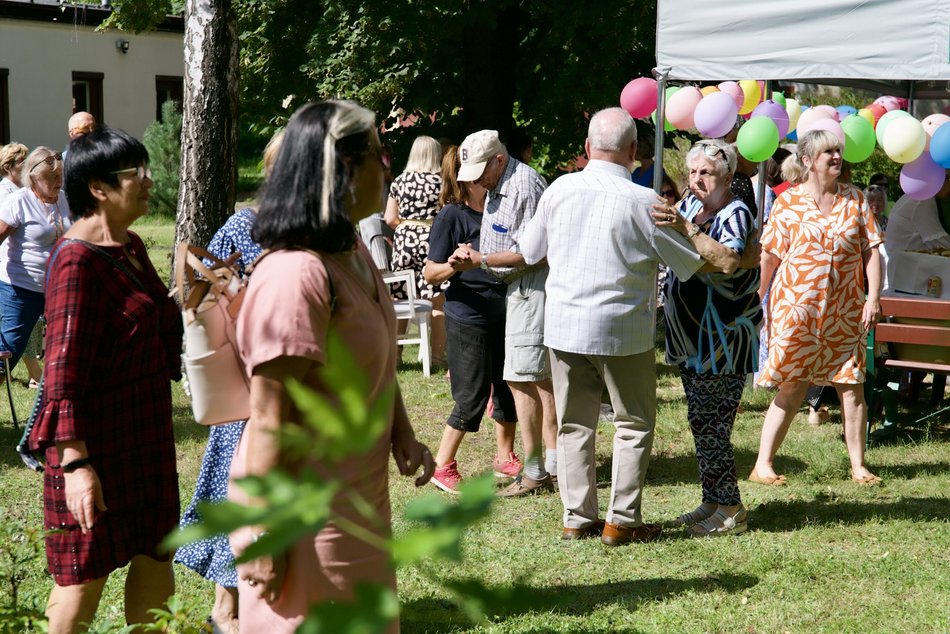
<path id="1" fill-rule="evenodd" d="M 585 144 L 591 161 L 548 187 L 521 244 L 525 262 L 547 257 L 550 266 L 544 343 L 559 425 L 563 537 L 600 536 L 609 545 L 660 536 L 640 512 L 656 418 L 657 263 L 680 279 L 703 265 L 682 234 L 654 224 L 653 191 L 630 181 L 636 138 L 624 110 L 595 114 Z M 594 457 L 605 384 L 616 427 L 606 525 L 598 517 Z"/>

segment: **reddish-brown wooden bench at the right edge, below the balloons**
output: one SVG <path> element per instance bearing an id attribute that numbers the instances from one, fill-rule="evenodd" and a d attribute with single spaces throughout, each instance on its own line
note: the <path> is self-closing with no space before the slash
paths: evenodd
<path id="1" fill-rule="evenodd" d="M 871 419 L 878 396 L 884 401 L 884 420 L 875 439 L 893 434 L 898 423 L 899 372 L 917 370 L 950 374 L 950 301 L 919 295 L 886 295 L 881 298 L 884 320 L 868 337 L 868 443 Z M 887 354 L 875 356 L 877 344 L 887 344 Z M 950 407 L 939 408 L 918 419 L 933 418 Z"/>

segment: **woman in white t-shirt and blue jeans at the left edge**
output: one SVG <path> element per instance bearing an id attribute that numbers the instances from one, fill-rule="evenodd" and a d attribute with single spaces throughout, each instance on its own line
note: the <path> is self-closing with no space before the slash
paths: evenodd
<path id="1" fill-rule="evenodd" d="M 56 240 L 72 220 L 63 187 L 62 156 L 38 147 L 26 157 L 23 187 L 0 205 L 0 349 L 16 365 L 43 314 L 43 277 Z"/>

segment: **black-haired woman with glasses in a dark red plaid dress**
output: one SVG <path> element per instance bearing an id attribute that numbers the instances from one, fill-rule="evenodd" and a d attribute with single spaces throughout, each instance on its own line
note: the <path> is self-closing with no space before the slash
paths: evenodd
<path id="1" fill-rule="evenodd" d="M 171 380 L 181 318 L 128 231 L 148 211 L 148 152 L 121 130 L 74 140 L 66 194 L 75 220 L 47 273 L 47 364 L 30 435 L 46 456 L 44 528 L 53 634 L 91 623 L 109 574 L 129 565 L 125 616 L 151 621 L 174 593 L 159 549 L 178 522 Z"/>

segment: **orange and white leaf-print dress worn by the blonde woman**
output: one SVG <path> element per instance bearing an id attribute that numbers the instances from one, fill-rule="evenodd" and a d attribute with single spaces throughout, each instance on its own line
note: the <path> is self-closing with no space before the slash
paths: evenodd
<path id="1" fill-rule="evenodd" d="M 863 253 L 883 243 L 864 194 L 839 185 L 828 217 L 802 186 L 775 201 L 762 249 L 780 260 L 769 293 L 769 353 L 758 384 L 864 382 Z"/>

